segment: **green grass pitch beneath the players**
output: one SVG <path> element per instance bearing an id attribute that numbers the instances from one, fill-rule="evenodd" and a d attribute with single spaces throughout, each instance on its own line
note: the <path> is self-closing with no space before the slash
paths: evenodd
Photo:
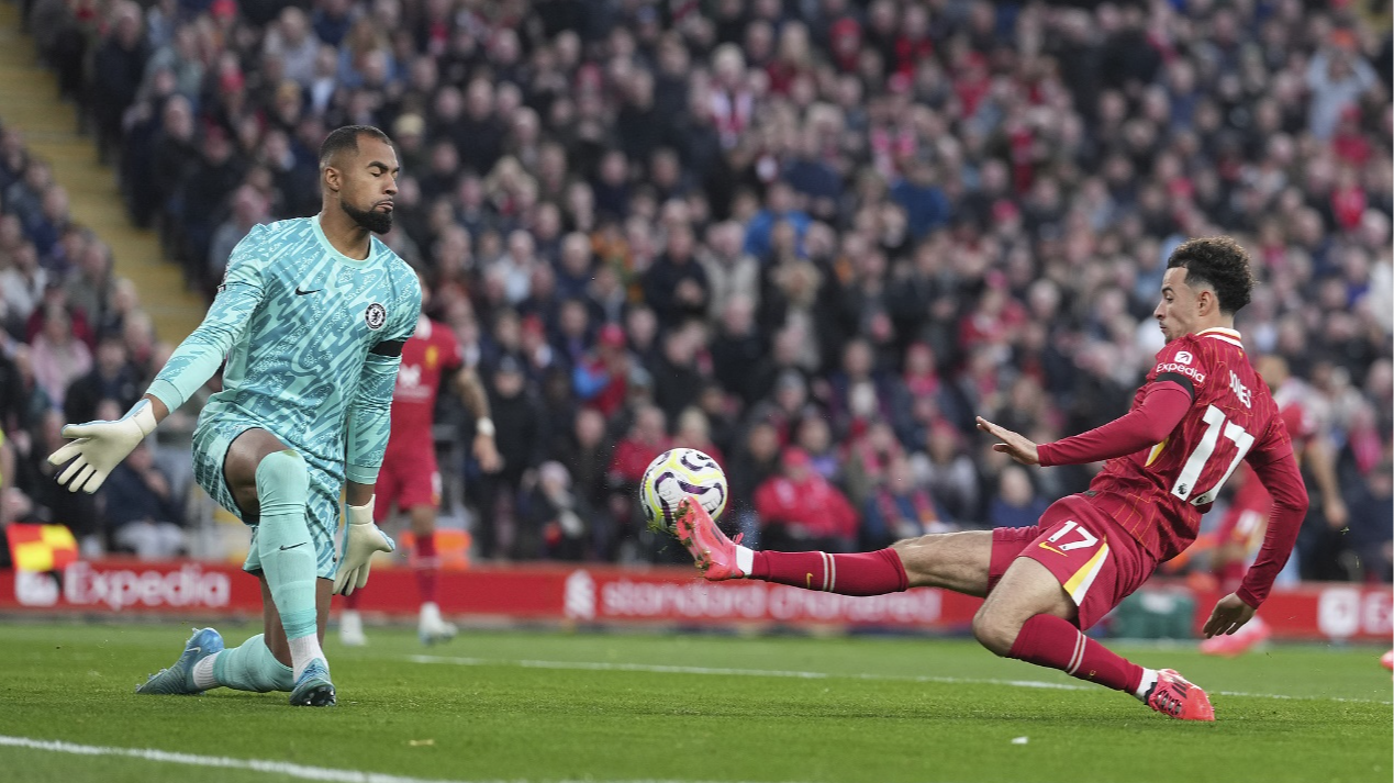
<path id="1" fill-rule="evenodd" d="M 256 633 L 220 630 L 230 645 Z M 361 649 L 330 638 L 335 709 L 227 690 L 134 695 L 187 637 L 0 624 L 0 779 L 1394 780 L 1394 683 L 1374 648 L 1224 660 L 1117 645 L 1206 687 L 1213 724 L 924 638 L 464 631 L 422 648 L 379 628 Z"/>

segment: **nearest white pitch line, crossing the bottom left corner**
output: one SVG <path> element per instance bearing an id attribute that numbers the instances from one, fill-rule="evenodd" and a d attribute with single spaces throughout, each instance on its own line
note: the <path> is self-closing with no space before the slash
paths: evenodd
<path id="1" fill-rule="evenodd" d="M 188 766 L 212 766 L 220 769 L 245 769 L 248 772 L 262 772 L 266 775 L 286 775 L 302 780 L 321 780 L 325 783 L 528 783 L 524 779 L 512 780 L 436 780 L 425 777 L 406 777 L 401 775 L 386 775 L 382 772 L 360 772 L 357 769 L 335 769 L 329 766 L 307 766 L 287 761 L 269 761 L 259 758 L 229 758 L 213 755 L 181 754 L 160 751 L 155 748 L 113 748 L 105 745 L 79 745 L 63 740 L 33 740 L 29 737 L 8 737 L 0 734 L 0 747 L 28 748 L 35 751 L 49 751 L 68 755 L 103 757 L 114 755 L 124 758 L 138 758 L 160 763 L 183 763 Z M 562 780 L 559 783 L 580 783 Z M 585 783 L 606 783 L 587 779 Z M 687 780 L 612 780 L 609 783 L 700 783 Z M 726 782 L 729 783 L 729 782 Z M 740 783 L 740 782 L 737 782 Z"/>

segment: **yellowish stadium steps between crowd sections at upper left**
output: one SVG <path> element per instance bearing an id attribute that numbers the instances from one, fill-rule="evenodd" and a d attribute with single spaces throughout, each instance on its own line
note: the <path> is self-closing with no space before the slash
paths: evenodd
<path id="1" fill-rule="evenodd" d="M 54 181 L 68 191 L 72 219 L 112 245 L 116 273 L 135 281 L 160 340 L 178 343 L 188 336 L 204 318 L 202 298 L 184 290 L 155 231 L 131 224 L 116 171 L 98 162 L 92 138 L 78 134 L 77 111 L 59 99 L 57 79 L 39 63 L 13 1 L 0 1 L 0 123 L 18 128 L 29 150 L 53 166 Z"/>

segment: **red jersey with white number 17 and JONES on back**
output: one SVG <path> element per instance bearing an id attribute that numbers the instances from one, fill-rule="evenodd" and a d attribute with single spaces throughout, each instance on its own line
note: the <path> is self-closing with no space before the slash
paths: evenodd
<path id="1" fill-rule="evenodd" d="M 1167 344 L 1133 407 L 1147 386 L 1160 382 L 1190 392 L 1181 424 L 1151 449 L 1110 460 L 1090 490 L 1151 555 L 1170 560 L 1196 539 L 1200 515 L 1241 460 L 1269 464 L 1289 456 L 1292 444 L 1232 329 L 1207 329 Z"/>

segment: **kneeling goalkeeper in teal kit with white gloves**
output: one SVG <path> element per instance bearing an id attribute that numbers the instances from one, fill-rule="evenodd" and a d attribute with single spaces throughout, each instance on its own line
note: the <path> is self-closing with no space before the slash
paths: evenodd
<path id="1" fill-rule="evenodd" d="M 330 595 L 361 588 L 374 552 L 395 548 L 372 522 L 372 493 L 401 346 L 421 311 L 415 273 L 372 235 L 392 227 L 397 155 L 378 128 L 350 125 L 325 139 L 319 174 L 319 215 L 256 226 L 237 244 L 202 325 L 141 401 L 120 421 L 68 425 L 74 440 L 49 457 L 71 463 L 60 483 L 96 492 L 226 357 L 223 390 L 194 431 L 194 475 L 252 528 L 244 570 L 261 580 L 265 628 L 233 649 L 213 628 L 195 631 L 137 692 L 226 685 L 333 705 L 321 649 Z"/>

